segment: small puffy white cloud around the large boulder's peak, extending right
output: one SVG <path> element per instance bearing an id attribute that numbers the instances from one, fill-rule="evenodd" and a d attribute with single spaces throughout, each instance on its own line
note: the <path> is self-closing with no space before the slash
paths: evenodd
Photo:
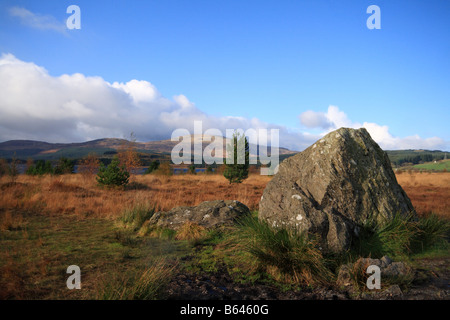
<path id="1" fill-rule="evenodd" d="M 371 137 L 385 150 L 396 149 L 445 149 L 446 142 L 438 137 L 421 138 L 418 135 L 408 137 L 394 137 L 389 127 L 372 122 L 353 122 L 345 112 L 330 105 L 327 112 L 308 110 L 300 114 L 300 122 L 308 128 L 324 129 L 322 135 L 341 127 L 366 128 Z"/>

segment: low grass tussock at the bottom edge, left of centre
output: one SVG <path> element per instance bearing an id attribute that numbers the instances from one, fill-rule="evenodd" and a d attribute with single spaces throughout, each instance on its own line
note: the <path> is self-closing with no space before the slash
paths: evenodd
<path id="1" fill-rule="evenodd" d="M 157 300 L 174 274 L 175 266 L 158 260 L 141 273 L 104 279 L 99 300 Z"/>

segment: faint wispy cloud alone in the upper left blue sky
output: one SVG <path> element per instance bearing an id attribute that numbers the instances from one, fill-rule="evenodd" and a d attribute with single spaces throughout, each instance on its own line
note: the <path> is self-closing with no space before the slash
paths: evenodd
<path id="1" fill-rule="evenodd" d="M 66 25 L 51 15 L 33 13 L 22 7 L 11 7 L 8 12 L 10 16 L 19 19 L 22 24 L 31 28 L 66 32 Z"/>

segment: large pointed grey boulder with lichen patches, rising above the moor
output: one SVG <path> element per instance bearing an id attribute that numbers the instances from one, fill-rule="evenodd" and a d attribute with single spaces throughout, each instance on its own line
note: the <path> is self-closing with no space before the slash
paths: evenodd
<path id="1" fill-rule="evenodd" d="M 324 250 L 348 249 L 367 219 L 415 214 L 387 154 L 366 129 L 340 128 L 279 165 L 259 218 L 319 236 Z"/>

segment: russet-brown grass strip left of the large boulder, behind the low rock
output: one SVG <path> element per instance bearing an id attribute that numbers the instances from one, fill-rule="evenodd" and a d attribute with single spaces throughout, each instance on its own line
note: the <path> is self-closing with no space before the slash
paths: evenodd
<path id="1" fill-rule="evenodd" d="M 16 183 L 0 179 L 0 210 L 116 218 L 124 208 L 142 200 L 154 203 L 157 210 L 170 210 L 219 199 L 238 200 L 257 210 L 269 180 L 255 174 L 241 184 L 230 185 L 220 175 L 142 175 L 132 176 L 125 190 L 105 190 L 97 186 L 95 176 L 20 175 Z"/>

